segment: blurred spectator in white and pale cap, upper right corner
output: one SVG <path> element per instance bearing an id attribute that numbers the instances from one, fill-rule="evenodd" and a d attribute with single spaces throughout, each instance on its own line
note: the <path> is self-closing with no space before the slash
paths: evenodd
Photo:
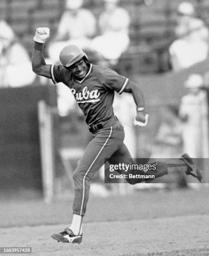
<path id="1" fill-rule="evenodd" d="M 174 71 L 191 67 L 204 61 L 208 55 L 209 30 L 197 18 L 192 3 L 183 2 L 177 10 L 177 40 L 170 48 L 170 61 Z"/>

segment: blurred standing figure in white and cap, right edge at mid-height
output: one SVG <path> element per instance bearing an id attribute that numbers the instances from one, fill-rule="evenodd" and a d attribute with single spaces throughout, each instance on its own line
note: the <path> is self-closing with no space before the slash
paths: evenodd
<path id="1" fill-rule="evenodd" d="M 201 89 L 203 78 L 191 74 L 185 82 L 188 94 L 182 98 L 179 116 L 184 121 L 183 148 L 193 158 L 208 158 L 208 105 L 207 94 Z"/>

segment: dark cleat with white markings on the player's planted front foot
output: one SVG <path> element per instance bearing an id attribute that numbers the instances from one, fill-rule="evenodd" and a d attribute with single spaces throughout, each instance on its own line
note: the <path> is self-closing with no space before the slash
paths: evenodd
<path id="1" fill-rule="evenodd" d="M 70 228 L 65 228 L 64 231 L 58 234 L 53 234 L 51 238 L 57 240 L 57 242 L 62 243 L 81 243 L 82 234 L 76 236 Z"/>

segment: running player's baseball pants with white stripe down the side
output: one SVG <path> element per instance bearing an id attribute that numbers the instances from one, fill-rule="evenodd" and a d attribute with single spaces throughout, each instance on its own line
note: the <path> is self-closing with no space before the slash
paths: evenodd
<path id="1" fill-rule="evenodd" d="M 104 164 L 105 159 L 111 157 L 110 164 L 134 164 L 123 140 L 124 129 L 116 118 L 111 119 L 104 128 L 93 133 L 93 140 L 88 144 L 84 155 L 80 159 L 77 168 L 73 173 L 75 193 L 73 201 L 74 214 L 85 215 L 89 197 L 90 180 Z M 162 166 L 162 169 L 166 168 L 166 165 Z M 122 171 L 118 172 L 122 173 Z M 133 170 L 132 173 L 135 174 L 135 171 Z M 142 181 L 144 180 L 127 179 L 127 182 L 130 184 L 136 184 Z"/>

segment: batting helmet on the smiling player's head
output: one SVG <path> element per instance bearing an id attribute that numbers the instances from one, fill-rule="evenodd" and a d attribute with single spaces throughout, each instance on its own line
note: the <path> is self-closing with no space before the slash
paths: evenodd
<path id="1" fill-rule="evenodd" d="M 70 67 L 72 64 L 83 57 L 88 60 L 85 52 L 74 44 L 65 46 L 60 52 L 60 61 L 65 67 Z"/>

